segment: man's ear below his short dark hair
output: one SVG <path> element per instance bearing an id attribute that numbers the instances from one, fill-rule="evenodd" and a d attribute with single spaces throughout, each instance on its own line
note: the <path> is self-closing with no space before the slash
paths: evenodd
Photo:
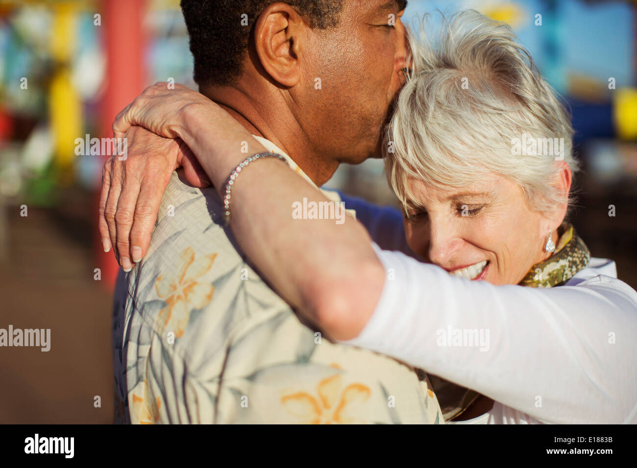
<path id="1" fill-rule="evenodd" d="M 254 26 L 255 48 L 261 65 L 275 82 L 292 87 L 301 80 L 298 53 L 308 26 L 287 3 L 273 3 Z"/>

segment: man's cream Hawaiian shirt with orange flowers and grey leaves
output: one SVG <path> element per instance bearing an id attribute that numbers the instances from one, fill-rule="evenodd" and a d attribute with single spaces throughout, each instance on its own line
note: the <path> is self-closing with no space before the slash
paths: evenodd
<path id="1" fill-rule="evenodd" d="M 115 422 L 443 423 L 424 372 L 301 322 L 252 269 L 222 206 L 174 173 L 146 258 L 120 271 Z"/>

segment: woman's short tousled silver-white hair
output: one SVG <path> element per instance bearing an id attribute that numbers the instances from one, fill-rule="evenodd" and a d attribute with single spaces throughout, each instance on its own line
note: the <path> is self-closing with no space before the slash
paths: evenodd
<path id="1" fill-rule="evenodd" d="M 519 184 L 536 211 L 568 203 L 569 194 L 552 182 L 556 159 L 573 173 L 578 169 L 573 129 L 529 53 L 508 25 L 478 11 L 441 16 L 435 44 L 424 32 L 427 18 L 420 38 L 408 31 L 412 69 L 387 132 L 387 176 L 403 207 L 417 204 L 410 177 L 434 187 L 467 187 L 489 172 Z M 560 146 L 550 151 L 556 138 L 564 145 L 561 155 L 555 155 Z M 533 140 L 537 154 L 525 154 L 533 148 L 522 145 Z"/>

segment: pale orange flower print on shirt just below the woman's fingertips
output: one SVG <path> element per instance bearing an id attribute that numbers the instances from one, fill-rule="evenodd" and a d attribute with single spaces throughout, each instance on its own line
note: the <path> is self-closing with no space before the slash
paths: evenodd
<path id="1" fill-rule="evenodd" d="M 199 283 L 197 279 L 210 271 L 217 254 L 195 260 L 195 252 L 189 247 L 179 257 L 175 276 L 165 278 L 160 274 L 155 281 L 157 294 L 166 302 L 166 307 L 159 313 L 159 320 L 163 329 L 175 333 L 177 338 L 183 335 L 188 325 L 190 310 L 201 309 L 212 300 L 215 287 Z"/>

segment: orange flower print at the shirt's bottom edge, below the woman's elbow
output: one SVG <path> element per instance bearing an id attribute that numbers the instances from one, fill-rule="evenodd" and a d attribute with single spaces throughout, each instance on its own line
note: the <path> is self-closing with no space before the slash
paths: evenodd
<path id="1" fill-rule="evenodd" d="M 333 366 L 337 367 L 337 366 Z M 283 408 L 297 422 L 306 424 L 355 424 L 362 423 L 350 416 L 355 406 L 367 401 L 371 390 L 361 383 L 352 383 L 343 389 L 340 374 L 328 377 L 317 386 L 318 398 L 307 392 L 284 395 L 281 399 Z"/>

